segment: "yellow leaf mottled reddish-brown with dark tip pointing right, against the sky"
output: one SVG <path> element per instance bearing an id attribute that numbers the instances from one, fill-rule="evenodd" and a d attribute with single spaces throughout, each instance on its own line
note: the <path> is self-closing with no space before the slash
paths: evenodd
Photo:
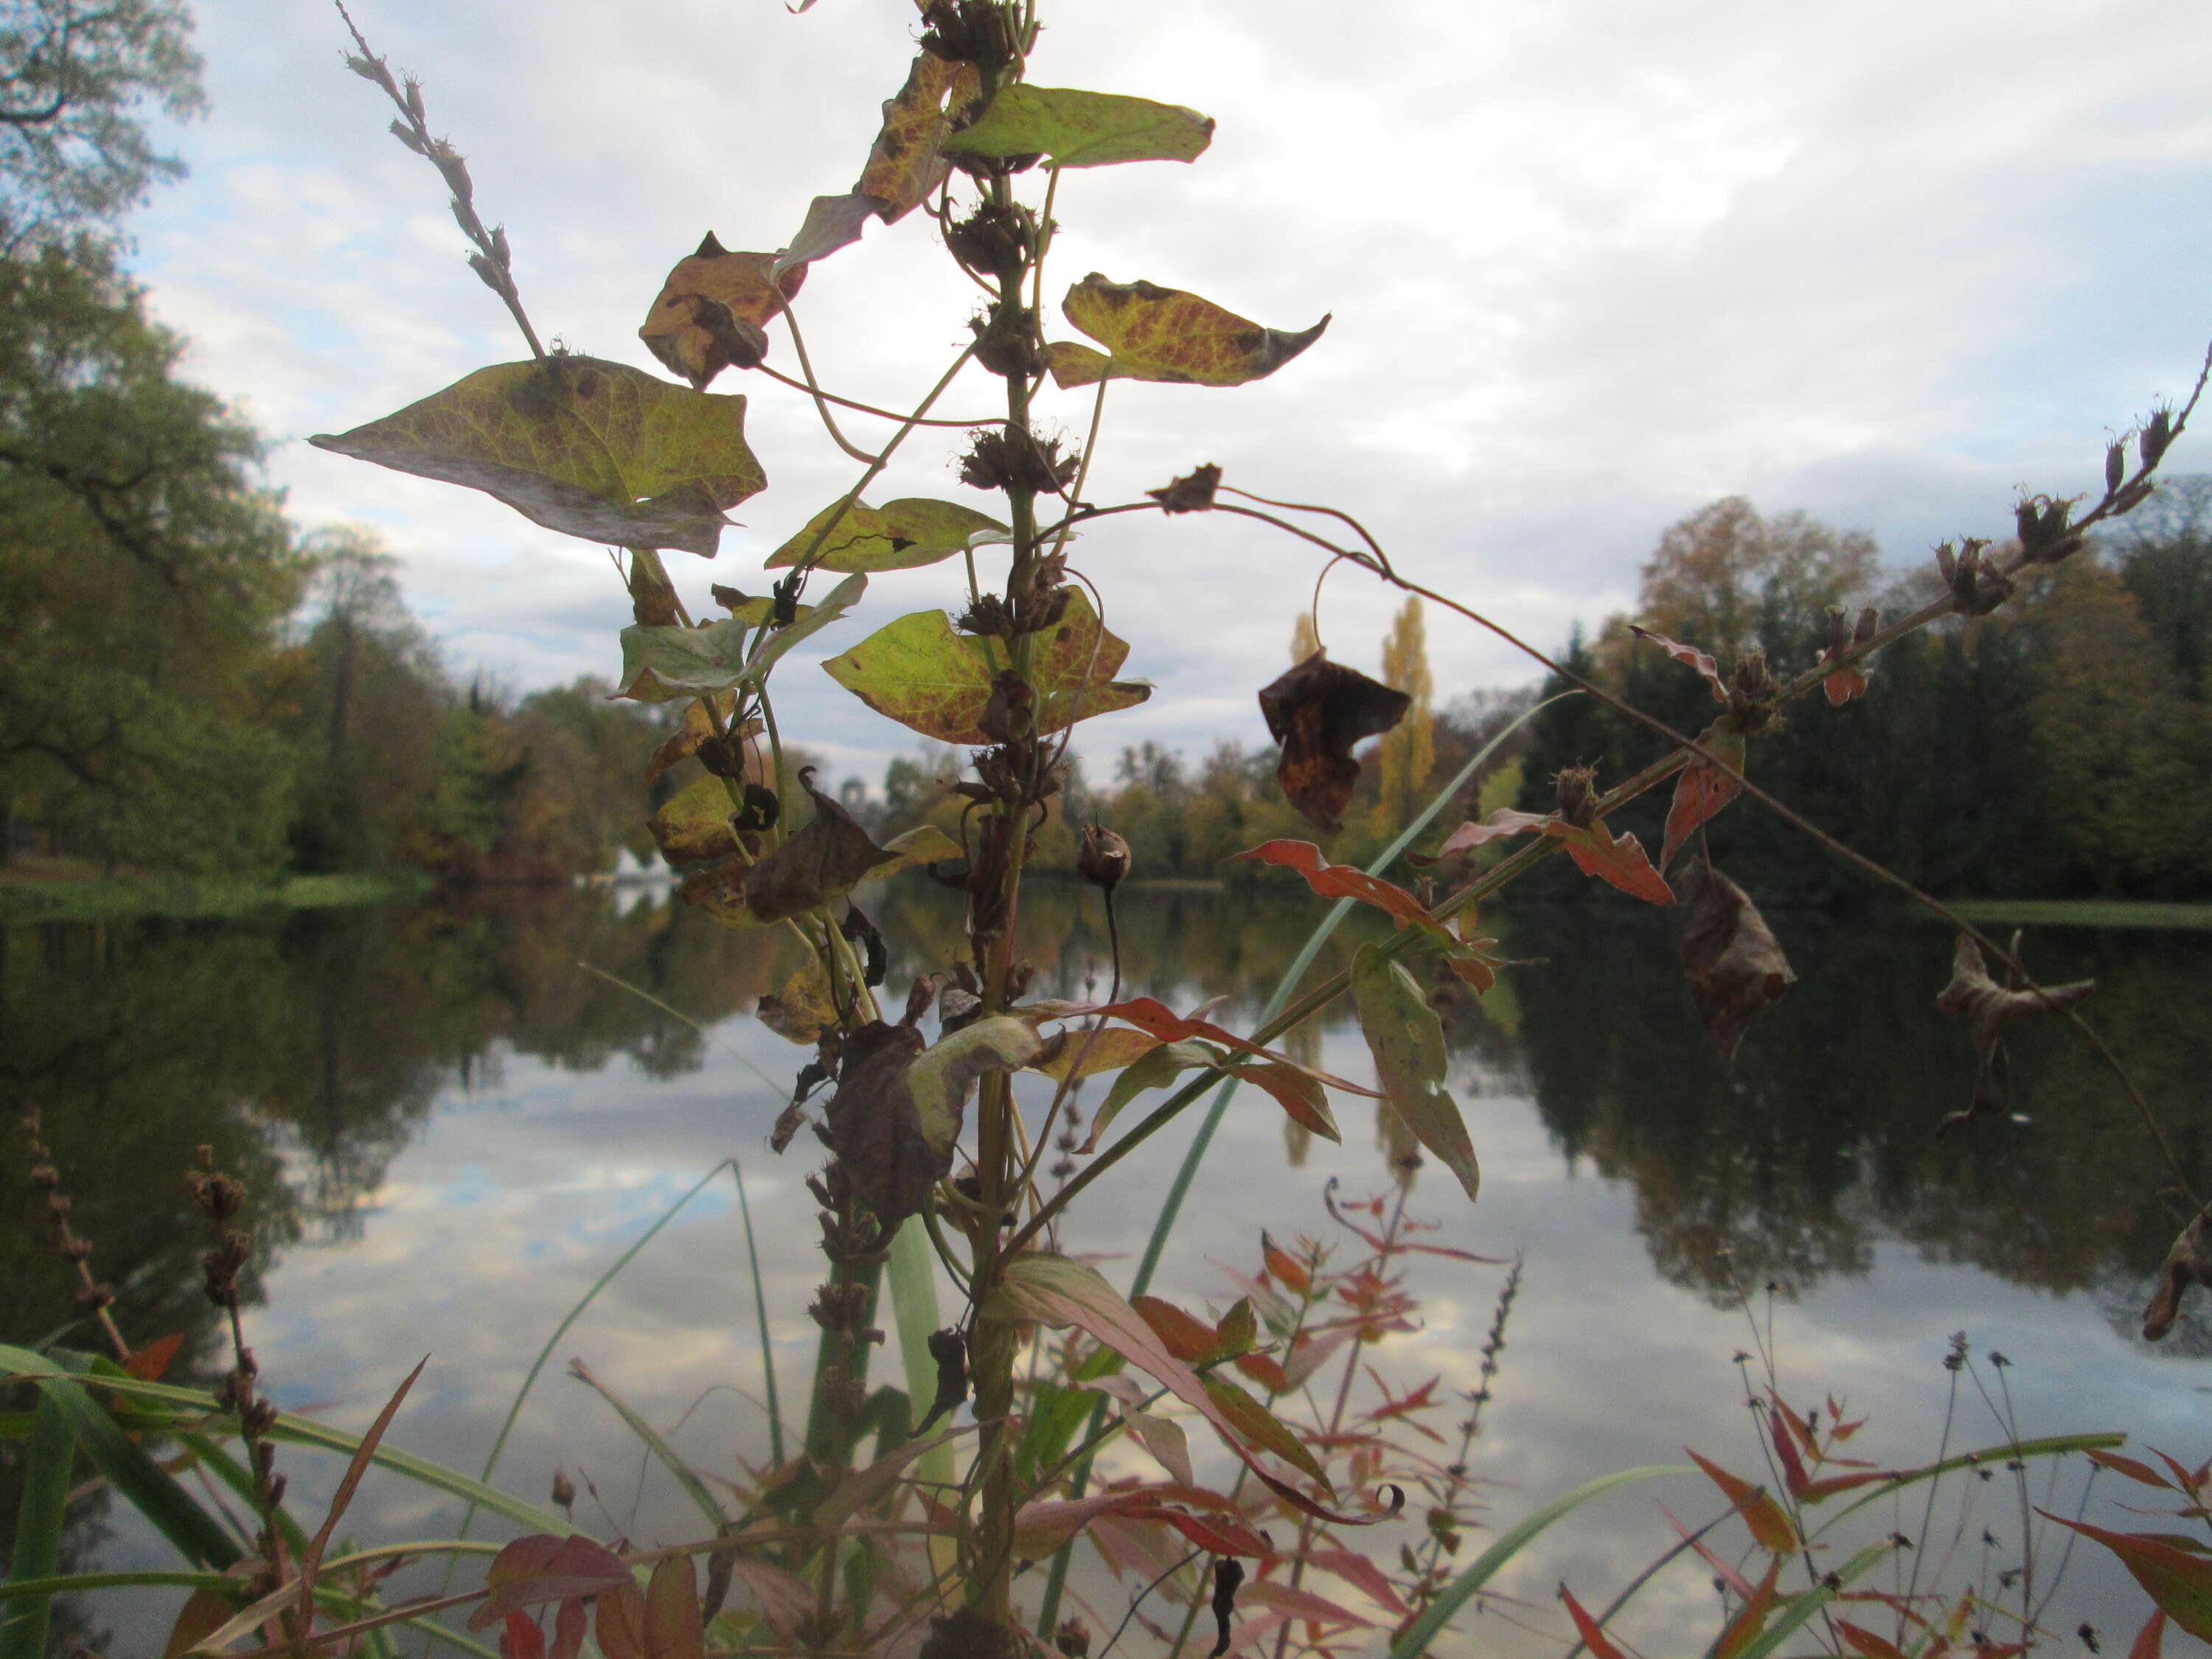
<path id="1" fill-rule="evenodd" d="M 1082 345 L 1053 345 L 1053 380 L 1062 387 L 1099 378 L 1245 385 L 1274 374 L 1329 325 L 1323 316 L 1310 330 L 1285 334 L 1179 288 L 1113 283 L 1099 272 L 1075 283 L 1060 310 L 1113 354 L 1099 358 Z"/>

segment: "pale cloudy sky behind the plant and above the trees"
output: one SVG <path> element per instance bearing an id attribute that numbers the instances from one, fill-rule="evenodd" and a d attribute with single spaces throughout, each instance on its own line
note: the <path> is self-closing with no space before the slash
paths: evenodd
<path id="1" fill-rule="evenodd" d="M 524 354 L 462 265 L 436 175 L 383 133 L 332 11 L 201 0 L 212 117 L 142 212 L 137 270 L 190 372 L 272 438 L 307 524 L 374 526 L 456 668 L 513 688 L 615 668 L 606 553 L 489 498 L 325 456 L 343 431 Z M 781 248 L 849 188 L 914 53 L 907 0 L 363 0 L 434 131 L 469 155 L 533 319 L 655 367 L 637 323 L 714 230 Z M 1060 0 L 1033 77 L 1219 119 L 1197 166 L 1071 173 L 1048 290 L 1088 270 L 1329 332 L 1234 392 L 1117 383 L 1093 500 L 1214 460 L 1230 482 L 1365 518 L 1394 557 L 1542 644 L 1630 602 L 1659 531 L 1747 493 L 1874 531 L 1893 562 L 2002 533 L 2020 487 L 2086 491 L 2110 429 L 2183 394 L 2212 336 L 2212 31 L 2192 0 Z M 973 290 L 920 217 L 816 265 L 801 296 L 832 389 L 911 405 Z M 1057 323 L 1057 319 L 1055 319 Z M 1066 330 L 1055 330 L 1066 332 Z M 790 345 L 776 336 L 776 361 Z M 856 467 L 801 398 L 752 394 L 770 487 L 708 566 L 761 557 Z M 998 385 L 956 387 L 989 414 Z M 1079 436 L 1088 394 L 1048 394 Z M 856 427 L 872 422 L 856 418 Z M 856 434 L 858 436 L 858 434 Z M 880 495 L 984 507 L 947 445 Z M 2188 440 L 2172 465 L 2212 465 Z M 1091 732 L 1203 752 L 1263 741 L 1310 549 L 1223 520 L 1126 518 L 1077 544 L 1128 672 L 1159 690 Z M 752 575 L 748 575 L 752 573 Z M 836 650 L 945 604 L 878 577 Z M 1338 573 L 1325 637 L 1376 668 L 1391 597 Z M 1438 695 L 1528 670 L 1431 619 Z M 880 774 L 907 734 L 803 655 L 783 730 Z"/>

